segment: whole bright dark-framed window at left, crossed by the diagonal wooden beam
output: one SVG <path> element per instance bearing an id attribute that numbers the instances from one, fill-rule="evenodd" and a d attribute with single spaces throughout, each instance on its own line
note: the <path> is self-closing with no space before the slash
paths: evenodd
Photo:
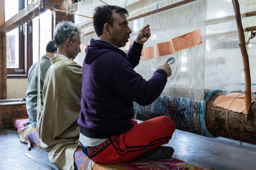
<path id="1" fill-rule="evenodd" d="M 5 0 L 5 22 L 19 13 L 27 0 Z M 28 2 L 29 3 L 29 2 Z M 29 67 L 38 61 L 38 17 L 6 33 L 6 66 L 8 78 L 26 77 Z M 52 13 L 40 15 L 40 57 L 52 39 Z"/>

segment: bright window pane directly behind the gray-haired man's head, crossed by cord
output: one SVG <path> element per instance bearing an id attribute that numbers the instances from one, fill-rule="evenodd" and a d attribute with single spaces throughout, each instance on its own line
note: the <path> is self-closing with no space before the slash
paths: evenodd
<path id="1" fill-rule="evenodd" d="M 40 15 L 40 57 L 45 55 L 45 48 L 52 39 L 52 12 Z M 38 61 L 38 17 L 33 19 L 33 64 Z"/>

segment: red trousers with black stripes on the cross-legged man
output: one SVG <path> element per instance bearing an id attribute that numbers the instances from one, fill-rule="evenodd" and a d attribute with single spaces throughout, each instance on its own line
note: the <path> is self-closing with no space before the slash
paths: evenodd
<path id="1" fill-rule="evenodd" d="M 134 126 L 127 132 L 112 136 L 97 146 L 82 147 L 94 162 L 118 164 L 132 160 L 142 153 L 170 141 L 175 125 L 170 117 L 152 118 Z"/>

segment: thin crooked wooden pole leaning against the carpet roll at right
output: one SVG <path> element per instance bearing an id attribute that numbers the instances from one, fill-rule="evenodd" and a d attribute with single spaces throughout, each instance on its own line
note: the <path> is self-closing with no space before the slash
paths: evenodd
<path id="1" fill-rule="evenodd" d="M 247 120 L 248 116 L 250 115 L 250 109 L 252 106 L 252 96 L 251 96 L 251 75 L 250 75 L 250 65 L 249 65 L 249 59 L 248 59 L 248 53 L 246 50 L 246 44 L 244 40 L 244 30 L 243 25 L 241 21 L 241 14 L 240 14 L 240 8 L 239 3 L 237 0 L 232 0 L 233 6 L 234 6 L 234 12 L 235 12 L 235 18 L 236 18 L 236 25 L 237 25 L 237 31 L 239 35 L 239 46 L 243 57 L 243 67 L 244 67 L 244 86 L 245 86 L 245 118 Z"/>

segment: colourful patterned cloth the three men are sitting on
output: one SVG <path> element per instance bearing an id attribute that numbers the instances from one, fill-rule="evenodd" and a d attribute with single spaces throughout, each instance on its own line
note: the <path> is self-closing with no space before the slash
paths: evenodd
<path id="1" fill-rule="evenodd" d="M 15 127 L 20 137 L 20 141 L 28 143 L 30 141 L 33 145 L 38 145 L 38 134 L 36 128 L 29 128 L 24 125 L 28 118 L 15 120 Z M 207 168 L 196 166 L 188 162 L 184 162 L 179 159 L 163 159 L 163 160 L 150 160 L 150 159 L 134 159 L 131 162 L 125 162 L 122 164 L 98 164 L 89 159 L 81 150 L 77 148 L 74 154 L 74 160 L 76 167 L 79 170 L 107 170 L 107 169 L 120 169 L 120 170 L 132 170 L 132 169 L 187 169 L 187 170 L 207 170 Z"/>

